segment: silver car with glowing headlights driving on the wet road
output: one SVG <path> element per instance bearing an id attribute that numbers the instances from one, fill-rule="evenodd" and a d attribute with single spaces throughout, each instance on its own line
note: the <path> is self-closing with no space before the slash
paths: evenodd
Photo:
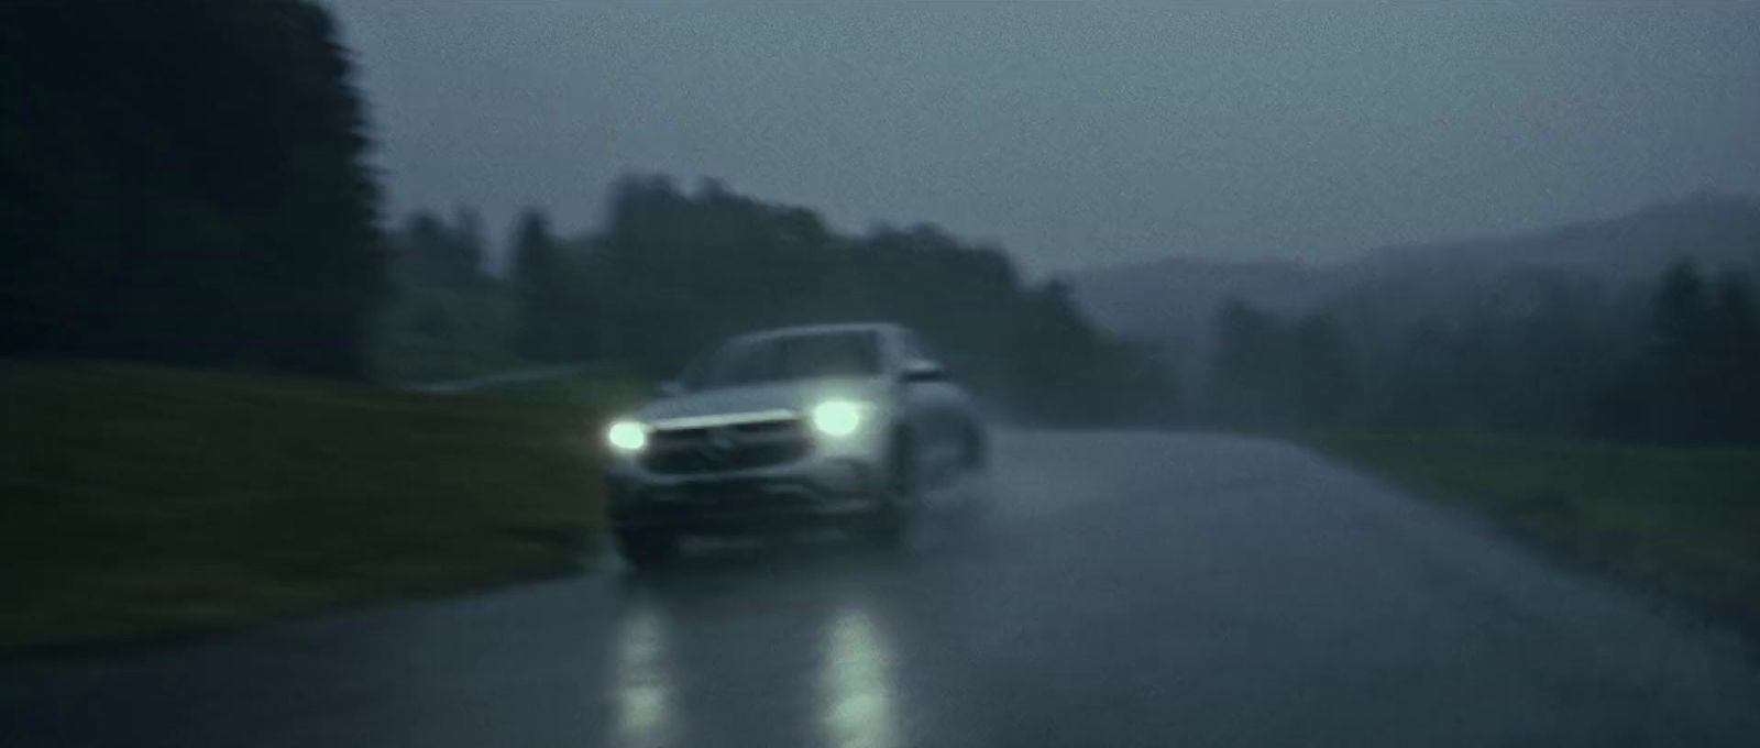
<path id="1" fill-rule="evenodd" d="M 607 424 L 612 533 L 635 567 L 681 537 L 840 528 L 901 546 L 924 496 L 980 473 L 972 398 L 917 334 L 834 324 L 741 334 Z"/>

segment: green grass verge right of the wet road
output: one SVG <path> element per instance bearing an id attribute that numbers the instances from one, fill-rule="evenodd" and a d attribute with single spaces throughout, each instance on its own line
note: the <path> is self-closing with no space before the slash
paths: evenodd
<path id="1" fill-rule="evenodd" d="M 1760 621 L 1760 449 L 1464 435 L 1304 442 L 1470 502 L 1579 558 Z"/>

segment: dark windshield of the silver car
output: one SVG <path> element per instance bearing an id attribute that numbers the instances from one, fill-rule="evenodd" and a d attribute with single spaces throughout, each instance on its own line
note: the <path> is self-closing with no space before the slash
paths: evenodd
<path id="1" fill-rule="evenodd" d="M 692 364 L 683 384 L 688 389 L 716 389 L 876 373 L 880 341 L 873 331 L 801 333 L 734 340 Z"/>

